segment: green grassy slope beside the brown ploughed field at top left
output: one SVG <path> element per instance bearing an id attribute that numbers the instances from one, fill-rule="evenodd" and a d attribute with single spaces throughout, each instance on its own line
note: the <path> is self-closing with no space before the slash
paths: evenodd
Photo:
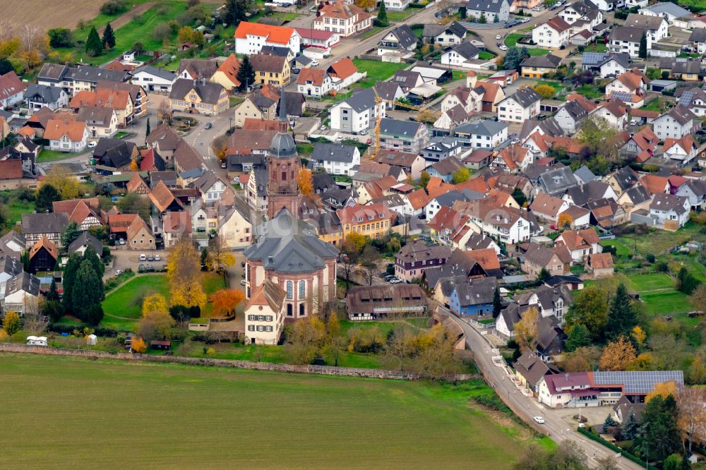
<path id="1" fill-rule="evenodd" d="M 143 3 L 143 2 L 140 2 Z M 85 61 L 91 64 L 103 64 L 104 62 L 115 59 L 125 51 L 132 50 L 133 44 L 142 42 L 145 50 L 159 50 L 163 47 L 162 41 L 155 40 L 152 37 L 152 30 L 160 23 L 168 23 L 174 20 L 181 13 L 186 11 L 186 2 L 179 0 L 162 0 L 158 6 L 145 11 L 138 18 L 131 20 L 121 28 L 115 30 L 115 47 L 109 51 L 105 51 L 99 56 L 86 56 L 85 49 L 80 44 L 69 49 L 59 49 L 60 51 L 71 51 L 76 57 L 83 57 Z M 128 13 L 129 14 L 129 13 Z M 90 31 L 90 26 L 95 25 L 96 28 L 102 28 L 109 20 L 113 18 L 99 15 L 94 20 L 88 23 L 88 27 L 84 30 L 75 30 L 73 36 L 78 40 L 85 41 Z M 176 35 L 173 35 L 172 40 L 176 40 Z"/>

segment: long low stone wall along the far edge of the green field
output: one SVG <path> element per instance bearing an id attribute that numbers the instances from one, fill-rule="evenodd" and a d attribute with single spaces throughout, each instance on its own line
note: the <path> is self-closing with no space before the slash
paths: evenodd
<path id="1" fill-rule="evenodd" d="M 340 375 L 342 377 L 381 378 L 394 380 L 419 380 L 422 375 L 399 370 L 364 369 L 333 366 L 297 366 L 294 364 L 274 364 L 268 362 L 235 361 L 230 359 L 195 358 L 185 356 L 152 356 L 151 354 L 111 353 L 87 349 L 61 349 L 27 344 L 0 343 L 0 353 L 43 354 L 44 356 L 75 356 L 95 359 L 120 359 L 122 361 L 160 362 L 184 364 L 187 366 L 228 367 L 269 372 Z M 480 378 L 479 374 L 457 374 L 449 380 L 470 380 Z"/>

